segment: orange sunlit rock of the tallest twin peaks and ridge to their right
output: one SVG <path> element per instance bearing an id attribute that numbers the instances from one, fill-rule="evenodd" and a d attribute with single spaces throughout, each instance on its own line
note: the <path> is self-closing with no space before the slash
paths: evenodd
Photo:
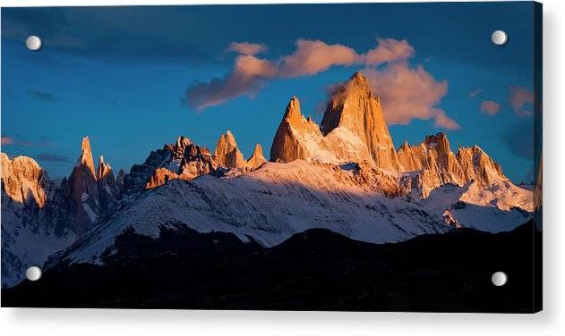
<path id="1" fill-rule="evenodd" d="M 334 89 L 320 127 L 304 117 L 298 98 L 290 100 L 273 139 L 270 161 L 290 163 L 297 159 L 309 163 L 368 163 L 402 175 L 399 194 L 420 197 L 427 197 L 432 189 L 446 183 L 463 186 L 473 181 L 480 188 L 493 183 L 511 185 L 501 166 L 480 147 L 461 147 L 454 154 L 442 132 L 426 136 L 415 146 L 405 142 L 397 151 L 381 101 L 361 72 Z"/>

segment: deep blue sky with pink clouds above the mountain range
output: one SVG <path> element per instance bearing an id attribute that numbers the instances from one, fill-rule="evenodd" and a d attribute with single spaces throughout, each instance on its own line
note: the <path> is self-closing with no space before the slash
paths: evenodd
<path id="1" fill-rule="evenodd" d="M 245 157 L 255 143 L 269 156 L 291 97 L 319 123 L 331 88 L 363 71 L 397 147 L 444 131 L 523 181 L 532 15 L 530 2 L 3 8 L 2 151 L 52 178 L 84 136 L 116 172 L 180 135 L 213 150 L 226 130 Z"/>

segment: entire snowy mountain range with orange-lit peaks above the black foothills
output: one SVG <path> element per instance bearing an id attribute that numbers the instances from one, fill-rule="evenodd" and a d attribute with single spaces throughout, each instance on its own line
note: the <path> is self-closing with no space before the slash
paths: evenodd
<path id="1" fill-rule="evenodd" d="M 366 243 L 462 228 L 511 231 L 532 218 L 534 193 L 510 181 L 478 146 L 453 152 L 447 136 L 398 149 L 381 101 L 361 72 L 335 88 L 321 124 L 290 99 L 270 147 L 244 158 L 234 134 L 214 151 L 191 139 L 150 152 L 114 175 L 90 140 L 68 178 L 51 180 L 32 158 L 2 160 L 2 287 L 30 265 L 105 265 L 133 231 L 225 232 L 276 247 L 325 229 Z"/>

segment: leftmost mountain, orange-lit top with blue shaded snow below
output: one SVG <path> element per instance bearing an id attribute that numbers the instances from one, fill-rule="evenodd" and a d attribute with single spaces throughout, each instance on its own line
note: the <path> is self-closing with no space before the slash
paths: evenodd
<path id="1" fill-rule="evenodd" d="M 47 256 L 69 246 L 76 236 L 56 195 L 61 186 L 30 157 L 10 160 L 2 153 L 1 158 L 4 288 L 20 282 L 28 267 L 43 265 Z"/>

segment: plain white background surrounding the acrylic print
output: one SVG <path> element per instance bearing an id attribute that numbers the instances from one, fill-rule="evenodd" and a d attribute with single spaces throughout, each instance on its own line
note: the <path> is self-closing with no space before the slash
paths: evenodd
<path id="1" fill-rule="evenodd" d="M 244 1 L 246 4 L 272 1 Z M 302 1 L 277 1 L 278 3 Z M 319 1 L 309 1 L 315 3 Z M 323 2 L 323 1 L 322 1 Z M 325 1 L 332 2 L 332 1 Z M 335 1 L 334 1 L 335 2 Z M 344 2 L 344 1 L 341 1 Z M 345 1 L 347 2 L 347 1 Z M 3 0 L 3 6 L 205 4 L 155 0 Z M 210 2 L 211 3 L 211 2 Z M 215 4 L 242 3 L 217 1 Z M 0 309 L 2 335 L 565 335 L 565 1 L 544 3 L 544 311 L 536 315 Z M 477 21 L 480 24 L 480 21 Z M 561 36 L 561 38 L 559 38 Z M 430 37 L 433 38 L 433 37 Z M 561 40 L 560 40 L 561 39 Z M 560 62 L 561 60 L 561 62 Z M 563 192 L 560 192 L 563 190 Z M 477 247 L 479 248 L 479 247 Z M 418 284 L 415 283 L 415 286 Z"/>

